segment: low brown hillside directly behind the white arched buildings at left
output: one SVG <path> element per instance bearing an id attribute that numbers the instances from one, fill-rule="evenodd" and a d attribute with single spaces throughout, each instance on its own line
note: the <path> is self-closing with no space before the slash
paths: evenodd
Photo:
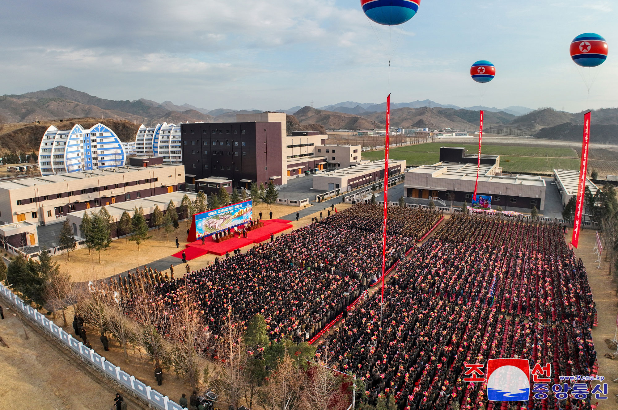
<path id="1" fill-rule="evenodd" d="M 41 121 L 40 123 L 14 123 L 7 124 L 0 129 L 0 152 L 11 151 L 13 153 L 38 153 L 43 133 L 50 125 L 55 125 L 59 130 L 70 130 L 75 124 L 84 128 L 90 128 L 101 122 L 111 128 L 123 142 L 135 141 L 135 134 L 139 125 L 127 120 L 100 118 L 78 118 L 70 120 Z"/>

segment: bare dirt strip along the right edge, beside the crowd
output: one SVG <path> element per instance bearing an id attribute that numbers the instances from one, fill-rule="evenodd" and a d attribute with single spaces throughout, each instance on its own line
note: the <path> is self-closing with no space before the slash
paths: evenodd
<path id="1" fill-rule="evenodd" d="M 570 240 L 571 230 L 567 234 L 567 241 Z M 614 353 L 615 350 L 607 348 L 604 340 L 613 339 L 616 332 L 616 314 L 618 312 L 618 296 L 616 296 L 616 283 L 607 275 L 609 263 L 601 262 L 601 269 L 596 269 L 596 256 L 593 254 L 595 247 L 595 231 L 584 229 L 580 234 L 579 249 L 575 249 L 575 254 L 582 258 L 583 264 L 588 273 L 588 281 L 592 289 L 592 295 L 596 303 L 598 316 L 598 326 L 593 327 L 592 337 L 595 341 L 596 357 L 599 362 L 599 375 L 605 377 L 607 383 L 607 400 L 599 401 L 599 410 L 618 409 L 618 383 L 612 380 L 618 378 L 618 359 L 607 359 L 606 353 Z M 601 259 L 603 261 L 603 259 Z M 599 382 L 593 382 L 595 385 Z M 595 401 L 593 401 L 595 403 Z"/>

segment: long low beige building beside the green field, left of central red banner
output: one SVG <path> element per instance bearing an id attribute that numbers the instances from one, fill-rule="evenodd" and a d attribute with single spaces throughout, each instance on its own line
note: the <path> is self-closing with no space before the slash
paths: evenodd
<path id="1" fill-rule="evenodd" d="M 404 172 L 405 160 L 389 159 L 388 162 L 389 176 Z M 321 191 L 341 189 L 341 192 L 346 192 L 382 179 L 384 179 L 384 159 L 315 175 L 313 189 Z"/>

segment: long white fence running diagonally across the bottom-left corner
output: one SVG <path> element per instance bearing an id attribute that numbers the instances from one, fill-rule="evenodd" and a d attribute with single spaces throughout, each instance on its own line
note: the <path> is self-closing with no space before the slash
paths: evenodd
<path id="1" fill-rule="evenodd" d="M 107 361 L 103 356 L 95 353 L 93 349 L 89 349 L 82 344 L 81 341 L 73 338 L 69 333 L 62 330 L 51 320 L 47 319 L 44 315 L 33 309 L 31 306 L 23 303 L 19 296 L 15 295 L 9 288 L 0 283 L 0 293 L 10 299 L 12 303 L 20 309 L 23 314 L 30 316 L 35 322 L 44 328 L 46 332 L 51 333 L 59 341 L 69 346 L 76 354 L 80 356 L 84 361 L 91 364 L 101 370 L 107 377 L 115 380 L 121 384 L 122 387 L 135 393 L 135 396 L 142 398 L 151 407 L 159 410 L 182 410 L 180 404 L 174 403 L 169 400 L 167 396 L 153 390 L 150 386 L 146 385 L 140 380 L 135 379 L 127 372 L 123 372 L 120 367 L 116 366 L 112 362 Z"/>

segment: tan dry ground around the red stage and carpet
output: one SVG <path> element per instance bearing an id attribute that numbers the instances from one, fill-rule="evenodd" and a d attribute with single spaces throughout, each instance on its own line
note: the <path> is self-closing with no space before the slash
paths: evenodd
<path id="1" fill-rule="evenodd" d="M 342 209 L 341 206 L 338 206 L 338 209 L 339 208 Z M 291 214 L 292 212 L 298 211 L 298 209 L 303 208 L 273 205 L 273 218 L 276 219 L 284 215 Z M 317 206 L 316 210 L 318 210 Z M 321 211 L 321 208 L 318 212 L 319 211 Z M 256 206 L 253 214 L 258 215 L 259 212 L 262 212 L 263 217 L 268 218 L 268 205 L 259 204 Z M 326 215 L 324 215 L 324 217 L 326 217 Z M 293 225 L 296 228 L 298 226 L 308 224 L 309 222 L 311 222 L 310 218 L 306 218 L 306 220 L 303 218 L 298 222 L 294 221 Z M 156 229 L 151 230 L 150 235 L 153 235 L 153 237 L 140 245 L 139 251 L 137 250 L 137 245 L 135 245 L 135 242 L 128 241 L 127 243 L 125 238 L 112 241 L 112 245 L 108 250 L 101 251 L 101 264 L 99 264 L 98 253 L 96 253 L 96 251 L 92 251 L 91 254 L 88 255 L 87 248 L 72 251 L 69 255 L 70 259 L 68 260 L 66 254 L 54 256 L 53 259 L 61 264 L 61 269 L 70 272 L 71 277 L 75 282 L 83 282 L 93 278 L 100 279 L 110 277 L 121 272 L 126 272 L 136 266 L 147 265 L 150 262 L 177 253 L 179 249 L 176 249 L 176 244 L 174 243 L 176 236 L 178 236 L 180 240 L 180 247 L 182 248 L 187 238 L 188 229 L 188 225 L 184 221 L 180 221 L 179 224 L 180 227 L 177 230 L 177 234 L 175 235 L 174 233 L 171 233 L 169 235 L 169 242 L 167 241 L 167 235 L 163 232 L 163 230 L 161 230 L 160 233 Z M 197 263 L 195 266 L 192 265 L 192 267 L 197 269 L 198 264 L 201 262 L 214 261 L 214 255 L 203 256 L 199 259 L 195 259 L 193 262 L 195 263 L 195 261 L 197 261 Z M 182 267 L 180 267 L 180 269 L 176 269 L 176 274 L 180 273 L 179 270 L 182 270 Z"/>

